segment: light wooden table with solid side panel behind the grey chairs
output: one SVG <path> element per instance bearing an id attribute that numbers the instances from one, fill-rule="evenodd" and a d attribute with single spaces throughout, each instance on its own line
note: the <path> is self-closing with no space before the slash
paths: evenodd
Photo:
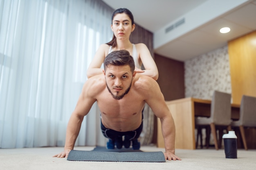
<path id="1" fill-rule="evenodd" d="M 175 148 L 195 149 L 195 116 L 209 117 L 211 100 L 197 98 L 182 98 L 166 101 L 170 109 L 176 129 Z M 239 119 L 240 105 L 231 104 L 231 118 Z M 157 147 L 164 148 L 161 122 L 157 118 Z"/>

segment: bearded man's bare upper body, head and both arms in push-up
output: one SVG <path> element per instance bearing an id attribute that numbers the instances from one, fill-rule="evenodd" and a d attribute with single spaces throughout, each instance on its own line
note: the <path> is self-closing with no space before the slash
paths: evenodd
<path id="1" fill-rule="evenodd" d="M 64 151 L 54 157 L 67 157 L 74 149 L 83 117 L 94 102 L 101 111 L 103 128 L 117 133 L 138 130 L 147 103 L 161 120 L 166 160 L 181 160 L 175 155 L 175 125 L 159 85 L 153 78 L 136 74 L 134 70 L 134 60 L 128 51 L 113 51 L 106 56 L 103 74 L 89 78 L 83 85 L 67 124 Z"/>

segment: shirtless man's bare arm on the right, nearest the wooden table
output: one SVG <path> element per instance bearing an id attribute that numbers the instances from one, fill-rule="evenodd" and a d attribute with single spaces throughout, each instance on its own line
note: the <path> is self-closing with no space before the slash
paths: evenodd
<path id="1" fill-rule="evenodd" d="M 147 81 L 146 81 L 147 82 Z M 156 81 L 148 80 L 144 83 L 146 86 L 146 102 L 154 112 L 155 116 L 160 118 L 162 124 L 162 134 L 164 137 L 165 158 L 168 160 L 181 160 L 175 155 L 175 124 L 164 96 Z"/>

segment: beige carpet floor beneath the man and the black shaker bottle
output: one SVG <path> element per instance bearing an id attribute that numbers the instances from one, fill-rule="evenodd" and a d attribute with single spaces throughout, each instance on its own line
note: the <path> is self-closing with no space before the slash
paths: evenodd
<path id="1" fill-rule="evenodd" d="M 94 147 L 75 147 L 92 150 Z M 0 149 L 0 170 L 255 170 L 256 150 L 238 150 L 238 159 L 226 159 L 224 149 L 176 149 L 182 161 L 165 163 L 67 161 L 52 157 L 62 147 Z M 143 151 L 164 151 L 142 146 Z"/>

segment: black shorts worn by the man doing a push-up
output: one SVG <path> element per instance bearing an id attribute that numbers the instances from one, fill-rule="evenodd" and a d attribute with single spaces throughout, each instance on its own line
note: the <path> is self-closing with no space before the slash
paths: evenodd
<path id="1" fill-rule="evenodd" d="M 103 136 L 105 136 L 108 139 L 115 140 L 120 137 L 125 137 L 126 139 L 129 139 L 130 141 L 134 139 L 138 139 L 139 135 L 141 134 L 141 131 L 143 129 L 143 115 L 141 120 L 141 125 L 135 129 L 134 131 L 126 131 L 126 132 L 119 132 L 112 129 L 107 129 L 101 121 L 101 131 L 103 133 Z"/>

